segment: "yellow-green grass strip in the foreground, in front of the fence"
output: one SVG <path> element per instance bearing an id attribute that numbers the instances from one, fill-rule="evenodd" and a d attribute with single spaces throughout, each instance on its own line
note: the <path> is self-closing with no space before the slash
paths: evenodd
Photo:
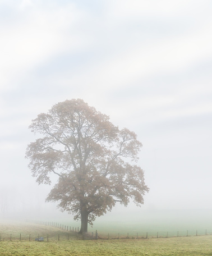
<path id="1" fill-rule="evenodd" d="M 0 255 L 212 255 L 212 236 L 143 240 L 1 241 Z"/>

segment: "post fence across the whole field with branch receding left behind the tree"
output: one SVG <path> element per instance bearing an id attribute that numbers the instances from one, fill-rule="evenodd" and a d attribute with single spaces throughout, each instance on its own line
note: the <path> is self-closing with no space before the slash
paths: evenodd
<path id="1" fill-rule="evenodd" d="M 13 241 L 13 240 L 28 240 L 28 241 L 61 241 L 61 240 L 70 240 L 70 237 L 75 237 L 75 239 L 149 239 L 149 238 L 169 238 L 169 237 L 183 237 L 183 236 L 204 236 L 204 235 L 212 235 L 212 231 L 208 230 L 184 230 L 184 231 L 167 231 L 167 232 L 126 232 L 125 234 L 122 233 L 114 233 L 111 232 L 109 233 L 103 233 L 103 232 L 98 232 L 97 230 L 95 232 L 86 232 L 82 236 L 79 235 L 79 227 L 73 227 L 73 226 L 68 226 L 68 225 L 62 225 L 61 223 L 58 222 L 49 222 L 49 221 L 35 221 L 35 220 L 26 220 L 27 222 L 38 224 L 38 225 L 45 225 L 45 226 L 52 226 L 61 229 L 61 231 L 58 232 L 56 235 L 55 233 L 52 235 L 51 232 L 49 231 L 50 234 L 42 234 L 42 235 L 32 235 L 32 232 L 28 235 L 23 234 L 15 234 L 10 233 L 5 233 L 1 232 L 0 230 L 0 241 L 8 240 L 8 241 Z M 33 232 L 35 234 L 35 232 Z M 73 238 L 72 238 L 73 239 Z"/>

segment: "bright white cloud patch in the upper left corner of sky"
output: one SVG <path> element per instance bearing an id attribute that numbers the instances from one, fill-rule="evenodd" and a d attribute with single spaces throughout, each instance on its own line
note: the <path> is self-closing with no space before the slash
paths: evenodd
<path id="1" fill-rule="evenodd" d="M 85 47 L 89 40 L 82 40 L 76 24 L 85 17 L 73 4 L 47 12 L 35 6 L 23 12 L 30 1 L 22 1 L 19 20 L 0 26 L 1 88 L 16 87 L 16 81 L 32 68 L 65 51 Z"/>

